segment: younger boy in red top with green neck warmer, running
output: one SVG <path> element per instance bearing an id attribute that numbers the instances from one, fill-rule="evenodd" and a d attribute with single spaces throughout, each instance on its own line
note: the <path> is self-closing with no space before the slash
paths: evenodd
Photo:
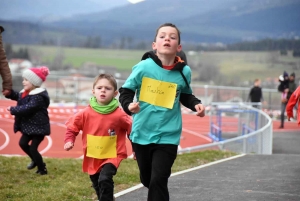
<path id="1" fill-rule="evenodd" d="M 118 90 L 113 76 L 97 76 L 92 92 L 94 96 L 89 106 L 66 123 L 64 149 L 72 149 L 76 136 L 82 131 L 82 170 L 89 174 L 98 200 L 112 201 L 113 176 L 121 161 L 127 158 L 126 134 L 131 132 L 132 119 L 115 98 Z"/>

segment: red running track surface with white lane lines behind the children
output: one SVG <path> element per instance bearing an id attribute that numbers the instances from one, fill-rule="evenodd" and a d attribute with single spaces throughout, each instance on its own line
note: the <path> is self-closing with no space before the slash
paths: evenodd
<path id="1" fill-rule="evenodd" d="M 13 132 L 14 117 L 6 110 L 8 106 L 16 105 L 15 101 L 0 100 L 0 154 L 1 155 L 25 155 L 19 147 L 20 133 Z M 83 108 L 83 107 L 81 107 Z M 51 135 L 41 143 L 39 151 L 44 157 L 54 158 L 79 158 L 82 156 L 81 137 L 78 135 L 75 146 L 70 151 L 65 151 L 64 122 L 74 114 L 78 109 L 74 107 L 49 107 L 49 116 L 51 121 Z M 224 117 L 223 122 L 233 122 L 228 124 L 226 131 L 237 131 L 234 118 Z M 273 121 L 274 131 L 300 130 L 296 122 L 285 122 L 285 129 L 279 130 L 279 121 Z M 224 128 L 223 128 L 224 129 Z M 183 132 L 180 141 L 180 147 L 192 147 L 201 144 L 211 143 L 208 137 L 209 132 L 209 117 L 197 117 L 194 114 L 183 113 Z M 128 155 L 131 155 L 132 150 L 129 141 L 127 141 Z"/>

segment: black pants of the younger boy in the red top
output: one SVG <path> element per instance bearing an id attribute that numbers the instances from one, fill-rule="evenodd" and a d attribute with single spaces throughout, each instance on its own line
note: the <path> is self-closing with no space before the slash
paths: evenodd
<path id="1" fill-rule="evenodd" d="M 117 168 L 111 164 L 103 165 L 100 172 L 90 175 L 93 188 L 96 191 L 99 201 L 113 201 L 114 181 L 113 176 L 117 173 Z"/>

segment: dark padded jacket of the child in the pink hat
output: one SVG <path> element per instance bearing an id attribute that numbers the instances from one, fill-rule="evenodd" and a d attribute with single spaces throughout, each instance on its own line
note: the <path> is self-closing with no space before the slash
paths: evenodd
<path id="1" fill-rule="evenodd" d="M 50 120 L 48 107 L 50 98 L 43 88 L 36 88 L 22 98 L 24 90 L 6 96 L 17 101 L 17 106 L 10 108 L 10 113 L 15 115 L 14 132 L 20 131 L 28 135 L 50 135 Z"/>

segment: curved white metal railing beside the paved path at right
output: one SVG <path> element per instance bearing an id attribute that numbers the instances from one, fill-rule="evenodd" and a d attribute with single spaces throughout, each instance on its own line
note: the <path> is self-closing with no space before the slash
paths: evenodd
<path id="1" fill-rule="evenodd" d="M 272 154 L 272 119 L 262 110 L 243 103 L 211 103 L 208 115 L 211 124 L 209 134 L 215 141 L 184 148 L 178 153 L 217 149 L 236 153 Z M 223 118 L 221 124 L 220 118 Z M 227 126 L 233 130 L 226 130 Z M 218 132 L 215 133 L 214 128 L 218 128 Z"/>

